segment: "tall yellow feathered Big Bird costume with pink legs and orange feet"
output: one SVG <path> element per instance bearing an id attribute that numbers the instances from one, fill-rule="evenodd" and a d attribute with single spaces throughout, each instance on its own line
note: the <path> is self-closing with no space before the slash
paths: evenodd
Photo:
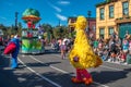
<path id="1" fill-rule="evenodd" d="M 69 59 L 71 64 L 76 69 L 76 76 L 72 77 L 72 82 L 90 85 L 93 83 L 93 78 L 86 69 L 97 67 L 103 61 L 93 52 L 92 47 L 90 46 L 85 33 L 86 24 L 87 22 L 84 16 L 78 16 L 76 23 L 74 23 L 76 37 L 70 51 Z"/>

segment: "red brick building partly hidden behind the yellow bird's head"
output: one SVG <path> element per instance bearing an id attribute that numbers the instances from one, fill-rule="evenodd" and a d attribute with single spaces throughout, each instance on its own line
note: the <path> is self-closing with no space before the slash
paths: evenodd
<path id="1" fill-rule="evenodd" d="M 87 20 L 87 28 L 86 32 L 90 34 L 91 37 L 96 38 L 96 18 L 95 17 L 86 17 Z M 68 26 L 71 30 L 74 29 L 73 23 L 76 22 L 76 17 L 69 17 L 68 18 Z M 88 27 L 90 25 L 90 27 Z"/>

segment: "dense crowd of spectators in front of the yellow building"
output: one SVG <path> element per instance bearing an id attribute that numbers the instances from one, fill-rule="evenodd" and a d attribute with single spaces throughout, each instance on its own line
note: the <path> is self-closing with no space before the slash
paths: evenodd
<path id="1" fill-rule="evenodd" d="M 122 39 L 114 33 L 109 39 L 96 39 L 92 45 L 94 52 L 103 61 L 131 64 L 131 36 L 128 32 Z"/>

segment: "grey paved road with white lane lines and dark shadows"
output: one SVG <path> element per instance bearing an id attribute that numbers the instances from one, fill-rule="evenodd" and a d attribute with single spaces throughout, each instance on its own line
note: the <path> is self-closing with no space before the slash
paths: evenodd
<path id="1" fill-rule="evenodd" d="M 47 50 L 38 55 L 20 54 L 16 70 L 9 67 L 9 60 L 0 60 L 0 87 L 86 87 L 71 83 L 75 70 L 68 58 L 61 60 L 59 53 Z M 87 87 L 130 87 L 130 65 L 104 62 L 102 66 L 88 71 L 94 83 Z"/>

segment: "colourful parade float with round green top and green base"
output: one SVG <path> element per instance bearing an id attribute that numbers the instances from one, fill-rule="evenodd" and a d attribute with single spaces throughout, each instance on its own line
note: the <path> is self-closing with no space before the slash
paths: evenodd
<path id="1" fill-rule="evenodd" d="M 36 24 L 40 21 L 39 12 L 35 9 L 26 9 L 22 20 L 27 28 L 22 29 L 22 53 L 44 53 L 44 38 L 39 37 Z"/>

